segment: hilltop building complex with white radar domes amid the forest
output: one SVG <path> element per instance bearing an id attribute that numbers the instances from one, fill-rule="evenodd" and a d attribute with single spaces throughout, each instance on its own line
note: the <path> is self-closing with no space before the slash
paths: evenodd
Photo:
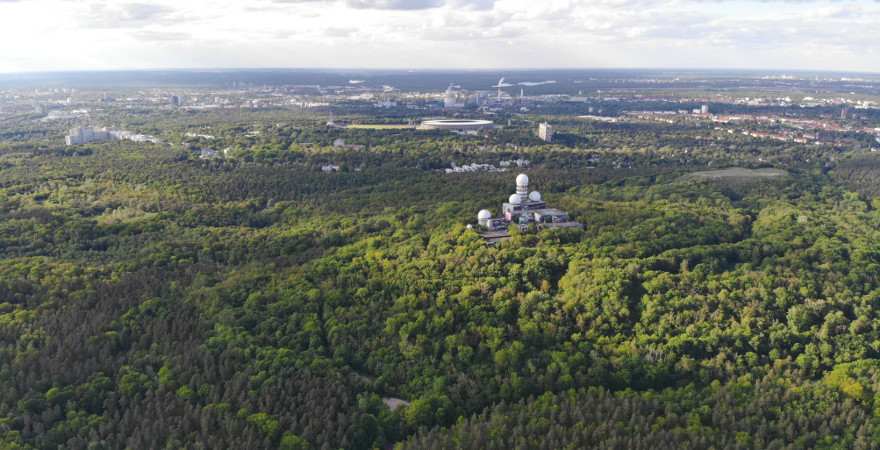
<path id="1" fill-rule="evenodd" d="M 583 224 L 571 220 L 567 212 L 547 207 L 540 192 L 529 192 L 529 177 L 524 173 L 516 177 L 516 192 L 501 204 L 499 217 L 493 217 L 488 209 L 477 213 L 477 230 L 489 245 L 509 239 L 511 225 L 521 231 L 527 231 L 530 226 L 538 230 L 583 228 Z"/>

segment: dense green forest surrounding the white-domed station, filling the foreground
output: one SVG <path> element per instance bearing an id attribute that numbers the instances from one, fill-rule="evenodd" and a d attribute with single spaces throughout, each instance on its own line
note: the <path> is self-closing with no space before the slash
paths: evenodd
<path id="1" fill-rule="evenodd" d="M 871 177 L 639 167 L 0 147 L 0 447 L 876 447 Z"/>

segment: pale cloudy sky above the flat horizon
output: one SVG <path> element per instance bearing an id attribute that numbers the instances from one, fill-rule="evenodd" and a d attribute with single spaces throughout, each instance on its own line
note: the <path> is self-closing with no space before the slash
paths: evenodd
<path id="1" fill-rule="evenodd" d="M 880 0 L 0 0 L 0 72 L 880 72 Z"/>

